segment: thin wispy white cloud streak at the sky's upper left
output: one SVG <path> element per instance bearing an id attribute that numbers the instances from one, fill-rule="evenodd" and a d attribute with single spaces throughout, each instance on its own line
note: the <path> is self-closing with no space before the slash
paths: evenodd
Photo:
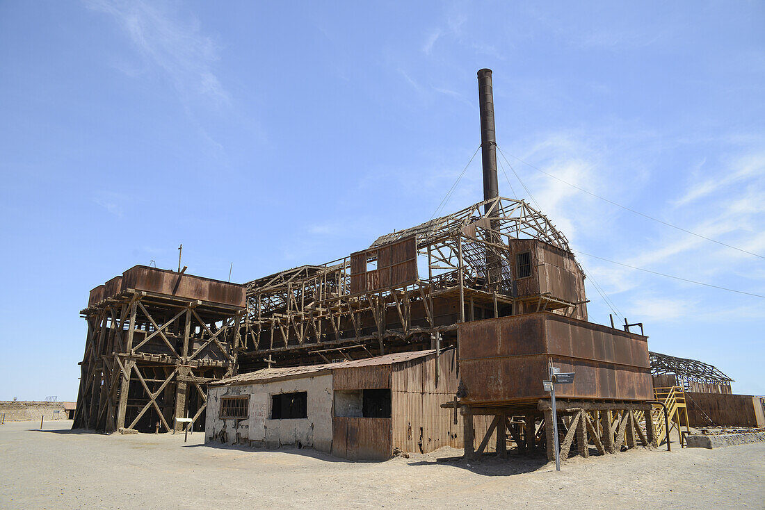
<path id="1" fill-rule="evenodd" d="M 202 99 L 215 108 L 229 105 L 229 93 L 213 69 L 219 48 L 202 33 L 197 20 L 184 21 L 158 2 L 87 0 L 86 5 L 112 15 L 141 54 L 168 77 L 184 102 Z M 118 68 L 135 75 L 132 67 L 121 64 Z"/>

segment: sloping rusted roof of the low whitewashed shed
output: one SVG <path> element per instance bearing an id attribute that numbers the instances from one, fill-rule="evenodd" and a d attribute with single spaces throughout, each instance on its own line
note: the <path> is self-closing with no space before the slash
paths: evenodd
<path id="1" fill-rule="evenodd" d="M 210 382 L 210 386 L 240 386 L 248 384 L 259 384 L 269 381 L 277 381 L 282 379 L 292 379 L 301 377 L 313 377 L 314 375 L 322 375 L 325 372 L 331 372 L 339 369 L 351 369 L 362 366 L 379 366 L 379 365 L 394 365 L 396 363 L 406 362 L 412 359 L 424 358 L 435 354 L 435 349 L 429 349 L 427 351 L 415 351 L 415 352 L 394 352 L 392 354 L 386 354 L 384 356 L 376 356 L 374 358 L 366 359 L 354 359 L 353 361 L 341 361 L 335 363 L 322 363 L 321 365 L 305 365 L 305 366 L 290 366 L 278 369 L 262 369 L 256 372 L 248 372 L 246 374 L 234 375 L 233 377 L 219 379 L 215 382 Z"/>

